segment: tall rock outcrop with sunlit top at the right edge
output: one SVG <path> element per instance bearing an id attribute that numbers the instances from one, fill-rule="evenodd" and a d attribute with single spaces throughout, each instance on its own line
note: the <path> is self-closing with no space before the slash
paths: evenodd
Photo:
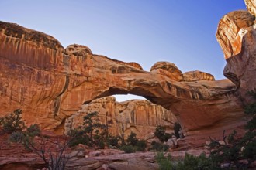
<path id="1" fill-rule="evenodd" d="M 250 102 L 247 91 L 254 90 L 256 84 L 256 24 L 255 1 L 245 2 L 249 12 L 223 16 L 216 37 L 227 59 L 224 75 L 236 84 L 238 95 L 247 104 Z"/>

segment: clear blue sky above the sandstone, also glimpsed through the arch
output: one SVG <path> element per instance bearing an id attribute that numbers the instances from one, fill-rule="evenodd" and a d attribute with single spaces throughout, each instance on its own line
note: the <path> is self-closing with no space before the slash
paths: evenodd
<path id="1" fill-rule="evenodd" d="M 0 6 L 0 20 L 45 32 L 64 47 L 82 44 L 147 71 L 168 61 L 216 80 L 226 64 L 215 38 L 218 22 L 245 9 L 243 0 L 0 0 Z"/>

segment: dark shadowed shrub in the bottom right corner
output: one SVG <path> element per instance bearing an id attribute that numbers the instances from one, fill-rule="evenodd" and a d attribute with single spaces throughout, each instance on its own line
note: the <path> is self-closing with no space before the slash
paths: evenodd
<path id="1" fill-rule="evenodd" d="M 256 99 L 255 90 L 249 93 Z M 247 105 L 244 108 L 244 113 L 252 115 L 250 121 L 247 122 L 247 129 L 243 137 L 238 137 L 237 131 L 226 135 L 223 131 L 222 143 L 211 138 L 209 145 L 211 149 L 210 158 L 219 167 L 226 163 L 227 169 L 247 169 L 256 161 L 256 102 Z M 244 160 L 241 162 L 241 160 Z"/>

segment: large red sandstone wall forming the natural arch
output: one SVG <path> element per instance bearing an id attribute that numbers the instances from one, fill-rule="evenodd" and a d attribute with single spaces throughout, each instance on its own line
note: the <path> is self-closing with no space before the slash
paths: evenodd
<path id="1" fill-rule="evenodd" d="M 137 63 L 95 55 L 85 46 L 64 49 L 42 32 L 0 22 L 0 115 L 21 108 L 26 124 L 40 124 L 61 134 L 65 119 L 82 104 L 131 93 L 171 110 L 185 136 L 197 143 L 205 143 L 198 137 L 221 135 L 223 129 L 246 122 L 236 87 L 229 80 L 180 81 L 175 78 L 178 70 L 166 76 L 172 73 L 169 66 L 152 69 L 165 73 L 147 72 Z"/>

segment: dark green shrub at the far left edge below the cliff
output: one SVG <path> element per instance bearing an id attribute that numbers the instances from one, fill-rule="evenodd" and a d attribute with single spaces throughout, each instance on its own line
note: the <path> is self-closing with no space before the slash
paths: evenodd
<path id="1" fill-rule="evenodd" d="M 22 131 L 24 128 L 24 122 L 22 121 L 22 110 L 17 109 L 12 113 L 7 114 L 5 117 L 0 118 L 0 125 L 3 128 L 3 131 L 11 134 L 14 131 Z"/>

